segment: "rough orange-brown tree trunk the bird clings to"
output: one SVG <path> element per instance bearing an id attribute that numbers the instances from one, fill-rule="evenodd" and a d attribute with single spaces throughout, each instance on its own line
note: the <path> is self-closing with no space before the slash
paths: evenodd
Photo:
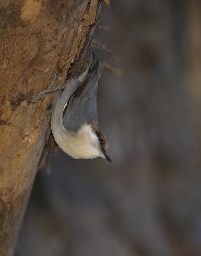
<path id="1" fill-rule="evenodd" d="M 38 104 L 53 71 L 57 84 L 86 49 L 99 0 L 3 0 L 0 4 L 0 255 L 13 255 L 49 127 L 51 95 Z M 79 65 L 78 65 L 79 66 Z"/>

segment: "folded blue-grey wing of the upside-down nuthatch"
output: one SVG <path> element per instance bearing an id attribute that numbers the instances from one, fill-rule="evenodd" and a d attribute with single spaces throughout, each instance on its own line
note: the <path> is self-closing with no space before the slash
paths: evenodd
<path id="1" fill-rule="evenodd" d="M 77 131 L 84 123 L 98 121 L 99 81 L 97 71 L 98 61 L 90 68 L 78 89 L 70 97 L 63 112 L 63 125 L 66 129 Z"/>

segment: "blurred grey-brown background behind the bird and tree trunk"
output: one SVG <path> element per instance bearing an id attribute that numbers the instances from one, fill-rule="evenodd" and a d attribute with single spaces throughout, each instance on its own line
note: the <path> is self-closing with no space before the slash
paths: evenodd
<path id="1" fill-rule="evenodd" d="M 94 38 L 109 163 L 37 174 L 16 256 L 201 255 L 201 1 L 112 0 Z"/>

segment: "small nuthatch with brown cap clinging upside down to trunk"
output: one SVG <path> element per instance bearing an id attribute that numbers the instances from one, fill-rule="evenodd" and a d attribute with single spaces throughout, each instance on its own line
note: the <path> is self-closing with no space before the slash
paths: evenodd
<path id="1" fill-rule="evenodd" d="M 98 60 L 95 63 L 91 54 L 89 67 L 79 77 L 66 80 L 63 86 L 48 89 L 34 98 L 43 100 L 46 94 L 62 90 L 56 98 L 51 117 L 51 129 L 59 147 L 73 158 L 102 157 L 111 162 L 106 155 L 109 144 L 98 125 Z"/>

